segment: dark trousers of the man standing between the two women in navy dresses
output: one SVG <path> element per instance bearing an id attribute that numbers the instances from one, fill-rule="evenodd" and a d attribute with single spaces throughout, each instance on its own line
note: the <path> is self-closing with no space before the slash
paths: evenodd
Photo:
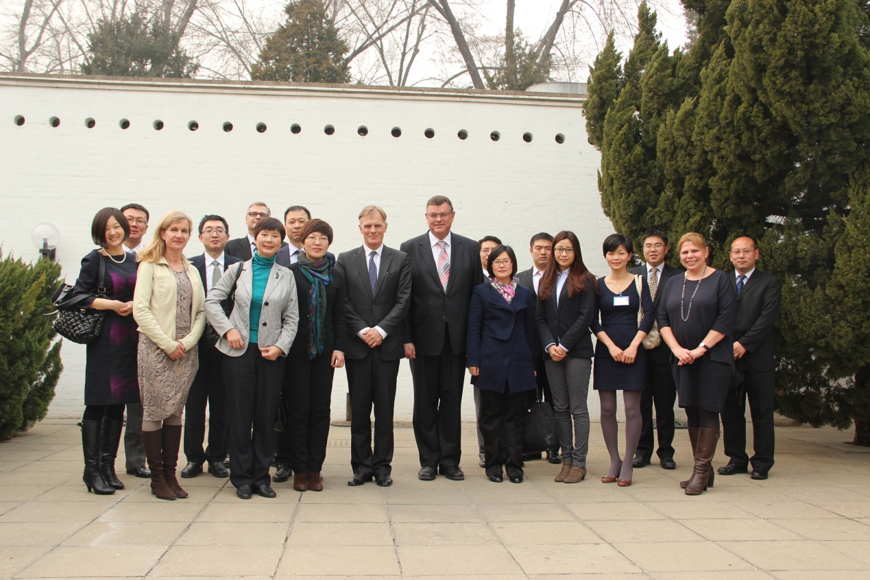
<path id="1" fill-rule="evenodd" d="M 677 388 L 673 383 L 671 363 L 656 363 L 646 357 L 646 373 L 649 388 L 640 397 L 640 440 L 635 455 L 653 457 L 653 404 L 655 405 L 656 431 L 659 435 L 660 457 L 673 457 L 673 403 L 677 400 Z"/>

